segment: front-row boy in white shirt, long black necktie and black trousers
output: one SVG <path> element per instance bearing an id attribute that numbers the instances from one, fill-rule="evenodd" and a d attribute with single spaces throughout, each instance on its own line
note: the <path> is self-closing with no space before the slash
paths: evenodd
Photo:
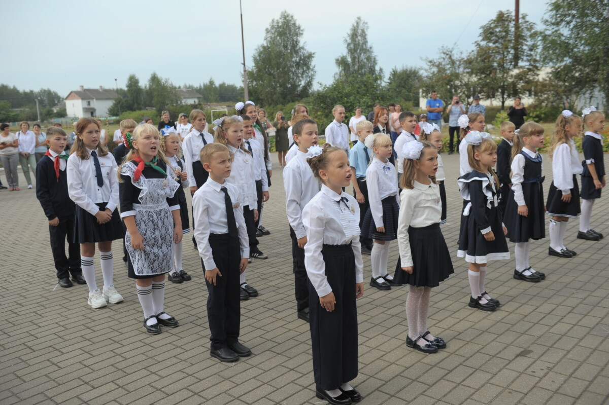
<path id="1" fill-rule="evenodd" d="M 252 354 L 238 340 L 239 274 L 247 267 L 250 245 L 239 189 L 225 181 L 231 173 L 230 151 L 222 144 L 208 144 L 200 160 L 209 178 L 192 196 L 192 211 L 208 291 L 209 355 L 233 362 Z"/>

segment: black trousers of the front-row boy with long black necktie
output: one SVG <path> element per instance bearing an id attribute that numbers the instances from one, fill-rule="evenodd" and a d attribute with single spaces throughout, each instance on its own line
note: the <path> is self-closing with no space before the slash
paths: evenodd
<path id="1" fill-rule="evenodd" d="M 216 277 L 216 285 L 205 280 L 207 285 L 207 320 L 211 350 L 227 347 L 239 338 L 241 321 L 241 301 L 239 300 L 239 263 L 241 249 L 239 239 L 228 234 L 209 235 L 209 246 L 216 267 L 222 277 Z M 201 260 L 203 271 L 206 269 Z"/>

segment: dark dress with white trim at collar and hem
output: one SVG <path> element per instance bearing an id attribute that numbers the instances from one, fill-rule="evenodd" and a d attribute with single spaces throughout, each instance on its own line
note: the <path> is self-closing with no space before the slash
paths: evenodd
<path id="1" fill-rule="evenodd" d="M 503 233 L 495 179 L 474 170 L 461 176 L 458 182 L 461 196 L 468 204 L 462 213 L 465 221 L 459 235 L 457 257 L 465 258 L 468 263 L 509 259 L 510 251 Z M 482 230 L 491 230 L 495 240 L 487 241 Z"/>

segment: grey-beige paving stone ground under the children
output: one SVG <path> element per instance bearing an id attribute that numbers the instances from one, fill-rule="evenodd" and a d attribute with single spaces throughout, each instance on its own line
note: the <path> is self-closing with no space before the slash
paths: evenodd
<path id="1" fill-rule="evenodd" d="M 443 159 L 449 215 L 442 232 L 456 273 L 432 291 L 429 329 L 448 348 L 424 355 L 406 347 L 407 287 L 385 292 L 366 283 L 358 302 L 360 369 L 353 381 L 363 403 L 607 403 L 609 196 L 597 201 L 592 217 L 594 229 L 608 235 L 604 240 L 576 239 L 578 221 L 569 222 L 566 243 L 577 257 L 549 257 L 549 241 L 533 241 L 530 261 L 546 272 L 543 282 L 514 280 L 513 259 L 490 263 L 487 289 L 502 306 L 485 313 L 468 308 L 467 266 L 456 257 L 459 155 Z M 547 192 L 552 173 L 545 159 Z M 55 288 L 48 226 L 35 192 L 2 190 L 0 403 L 323 403 L 314 395 L 309 327 L 296 317 L 281 169 L 273 170 L 272 182 L 262 217 L 272 234 L 260 238 L 269 259 L 247 269 L 260 296 L 242 303 L 240 339 L 253 355 L 234 364 L 209 357 L 207 292 L 190 235 L 184 264 L 193 279 L 166 284 L 166 311 L 180 327 L 149 336 L 120 241 L 113 244 L 114 284 L 125 300 L 91 310 L 85 285 Z M 397 255 L 394 242 L 391 270 Z M 95 260 L 101 283 L 99 255 Z M 370 258 L 364 263 L 369 280 Z"/>

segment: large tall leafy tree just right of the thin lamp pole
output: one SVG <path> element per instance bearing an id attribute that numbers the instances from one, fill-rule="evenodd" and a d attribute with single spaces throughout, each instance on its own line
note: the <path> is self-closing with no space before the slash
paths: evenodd
<path id="1" fill-rule="evenodd" d="M 247 72 L 250 94 L 261 105 L 286 104 L 309 95 L 315 77 L 314 53 L 301 43 L 303 29 L 290 13 L 281 12 L 256 47 Z"/>

